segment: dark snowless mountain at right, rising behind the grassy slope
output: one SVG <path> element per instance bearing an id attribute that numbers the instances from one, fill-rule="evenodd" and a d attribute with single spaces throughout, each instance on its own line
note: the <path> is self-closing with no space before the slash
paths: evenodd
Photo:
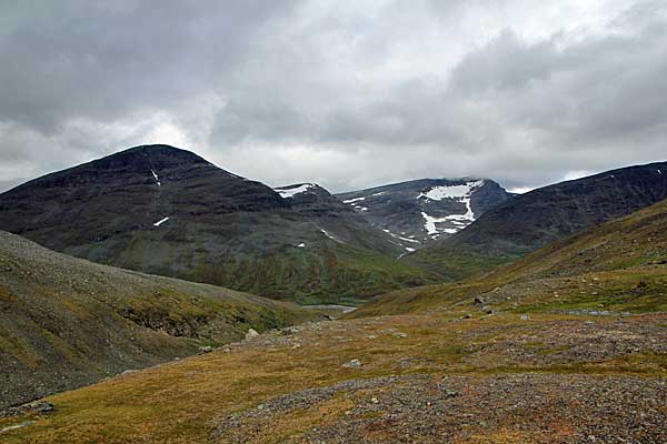
<path id="1" fill-rule="evenodd" d="M 506 201 L 407 261 L 461 279 L 666 198 L 667 162 L 561 182 Z"/>

